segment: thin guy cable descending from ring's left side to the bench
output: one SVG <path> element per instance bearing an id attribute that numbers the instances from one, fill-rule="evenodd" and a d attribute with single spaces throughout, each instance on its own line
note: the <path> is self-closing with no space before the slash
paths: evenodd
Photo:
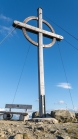
<path id="1" fill-rule="evenodd" d="M 23 70 L 24 70 L 24 67 L 25 67 L 25 63 L 26 63 L 26 60 L 27 60 L 27 56 L 28 56 L 29 50 L 30 50 L 30 45 L 29 45 L 29 47 L 28 47 L 28 51 L 27 51 L 27 54 L 26 54 L 26 57 L 25 57 L 25 61 L 24 61 L 24 64 L 23 64 L 23 68 L 22 68 L 20 77 L 19 77 L 19 81 L 18 81 L 18 84 L 17 84 L 17 87 L 16 87 L 16 91 L 15 91 L 15 94 L 14 94 L 14 98 L 13 98 L 12 104 L 13 104 L 13 102 L 14 102 L 14 100 L 15 100 L 16 93 L 17 93 L 17 91 L 18 91 L 18 87 L 19 87 L 19 84 L 20 84 L 20 81 L 21 81 L 21 77 L 22 77 L 22 74 L 23 74 Z"/>

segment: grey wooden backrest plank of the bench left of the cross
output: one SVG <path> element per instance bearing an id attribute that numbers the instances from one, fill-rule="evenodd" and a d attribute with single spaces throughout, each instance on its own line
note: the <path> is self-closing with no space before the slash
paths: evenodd
<path id="1" fill-rule="evenodd" d="M 6 104 L 6 105 L 5 105 L 5 108 L 32 109 L 32 105 Z"/>

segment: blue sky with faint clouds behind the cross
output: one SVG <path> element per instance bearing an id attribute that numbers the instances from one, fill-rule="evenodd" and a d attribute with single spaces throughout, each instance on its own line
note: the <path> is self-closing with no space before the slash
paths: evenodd
<path id="1" fill-rule="evenodd" d="M 78 40 L 61 29 L 78 38 L 77 0 L 0 0 L 0 42 L 13 30 L 14 20 L 23 22 L 29 16 L 37 16 L 38 7 L 43 9 L 43 19 L 52 25 L 57 34 L 64 37 L 58 43 L 65 72 L 57 42 L 51 48 L 44 49 L 46 109 L 62 109 L 66 108 L 66 104 L 69 109 L 73 109 L 70 93 L 74 108 L 78 109 Z M 29 24 L 37 26 L 36 21 Z M 45 25 L 43 29 L 50 31 Z M 37 35 L 28 34 L 37 41 Z M 48 44 L 51 39 L 43 38 L 43 42 Z M 33 110 L 38 110 L 37 49 L 19 29 L 0 44 L 0 108 L 4 108 L 6 103 L 12 103 L 16 92 L 15 104 L 32 104 Z"/>

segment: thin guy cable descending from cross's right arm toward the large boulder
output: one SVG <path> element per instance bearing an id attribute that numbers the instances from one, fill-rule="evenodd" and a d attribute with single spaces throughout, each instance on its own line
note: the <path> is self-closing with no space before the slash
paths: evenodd
<path id="1" fill-rule="evenodd" d="M 57 42 L 57 44 L 58 44 L 58 49 L 59 49 L 60 58 L 61 58 L 61 61 L 62 61 L 62 66 L 63 66 L 63 70 L 64 70 L 64 74 L 65 74 L 66 82 L 67 82 L 67 84 L 68 84 L 68 79 L 67 79 L 67 75 L 66 75 L 66 71 L 65 71 L 65 67 L 64 67 L 64 63 L 63 63 L 63 59 L 62 59 L 62 55 L 61 55 L 61 51 L 60 51 L 60 47 L 59 47 L 59 43 Z M 74 103 L 73 103 L 73 99 L 72 99 L 72 95 L 71 95 L 70 89 L 69 89 L 69 94 L 70 94 L 70 98 L 71 98 L 71 102 L 72 102 L 73 110 L 75 111 L 75 109 L 74 109 Z"/>

